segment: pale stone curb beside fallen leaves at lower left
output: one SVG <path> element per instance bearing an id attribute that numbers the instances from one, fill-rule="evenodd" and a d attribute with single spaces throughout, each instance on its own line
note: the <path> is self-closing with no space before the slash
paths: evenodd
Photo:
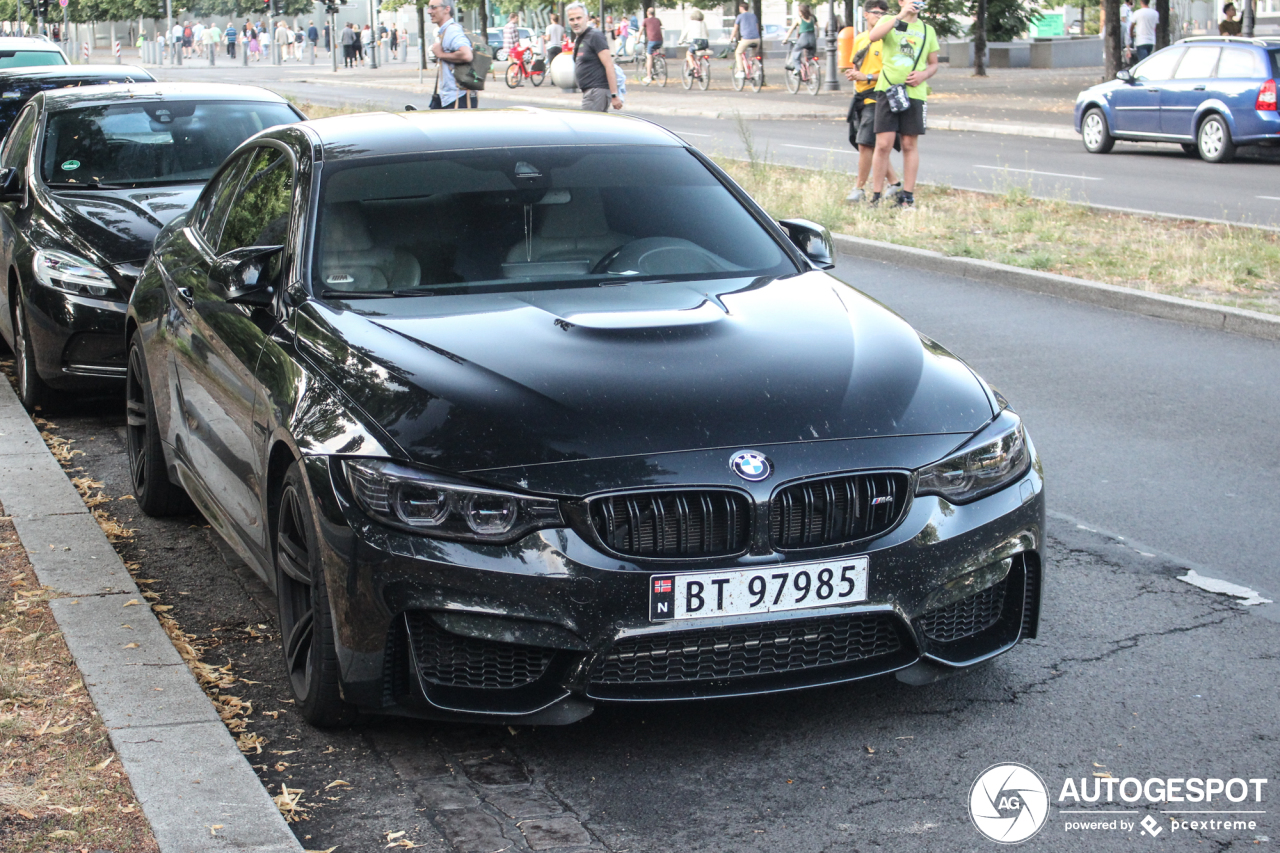
<path id="1" fill-rule="evenodd" d="M 302 853 L 8 382 L 0 501 L 160 850 Z"/>

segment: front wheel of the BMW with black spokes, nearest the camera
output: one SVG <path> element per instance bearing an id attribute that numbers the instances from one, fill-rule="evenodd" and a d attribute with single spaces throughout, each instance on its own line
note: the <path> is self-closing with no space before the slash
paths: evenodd
<path id="1" fill-rule="evenodd" d="M 276 502 L 275 567 L 284 665 L 302 717 L 323 727 L 349 725 L 356 708 L 338 689 L 338 653 L 319 535 L 297 462 L 284 475 Z"/>

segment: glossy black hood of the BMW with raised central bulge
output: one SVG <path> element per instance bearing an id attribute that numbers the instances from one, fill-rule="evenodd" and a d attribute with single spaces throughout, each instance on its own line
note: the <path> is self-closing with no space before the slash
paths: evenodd
<path id="1" fill-rule="evenodd" d="M 300 347 L 415 461 L 453 471 L 972 433 L 986 386 L 827 275 L 310 301 Z"/>

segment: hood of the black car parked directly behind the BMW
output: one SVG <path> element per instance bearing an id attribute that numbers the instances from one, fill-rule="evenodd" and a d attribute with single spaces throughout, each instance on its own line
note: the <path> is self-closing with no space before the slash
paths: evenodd
<path id="1" fill-rule="evenodd" d="M 49 204 L 61 209 L 55 219 L 108 263 L 142 264 L 160 229 L 189 210 L 204 186 L 55 191 Z"/>

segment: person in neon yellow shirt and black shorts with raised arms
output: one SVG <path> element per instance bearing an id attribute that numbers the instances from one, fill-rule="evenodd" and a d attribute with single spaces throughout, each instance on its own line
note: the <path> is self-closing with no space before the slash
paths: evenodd
<path id="1" fill-rule="evenodd" d="M 915 175 L 920 169 L 919 138 L 927 126 L 925 85 L 938 73 L 938 36 L 920 20 L 924 0 L 900 0 L 897 15 L 884 15 L 867 33 L 883 41 L 884 67 L 876 81 L 876 154 L 872 159 L 872 205 L 878 205 L 888 175 L 888 156 L 901 134 L 902 191 L 900 207 L 915 206 Z M 920 67 L 920 59 L 924 67 Z M 905 102 L 904 102 L 905 101 Z"/>

